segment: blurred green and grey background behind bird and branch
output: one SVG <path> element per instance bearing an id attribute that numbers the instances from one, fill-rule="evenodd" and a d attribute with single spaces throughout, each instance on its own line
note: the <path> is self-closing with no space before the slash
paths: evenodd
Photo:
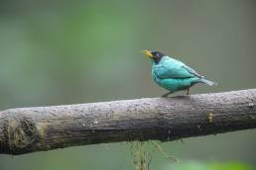
<path id="1" fill-rule="evenodd" d="M 151 80 L 142 49 L 177 56 L 219 84 L 191 93 L 255 88 L 255 17 L 254 0 L 2 0 L 0 110 L 160 96 L 166 91 Z M 151 168 L 256 165 L 255 129 L 184 141 L 162 144 L 181 164 L 155 151 Z M 0 169 L 130 170 L 129 148 L 122 142 L 0 155 Z"/>

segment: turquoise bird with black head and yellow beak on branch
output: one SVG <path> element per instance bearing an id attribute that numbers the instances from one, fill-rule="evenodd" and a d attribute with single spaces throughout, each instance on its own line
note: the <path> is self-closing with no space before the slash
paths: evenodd
<path id="1" fill-rule="evenodd" d="M 187 90 L 190 95 L 190 88 L 197 84 L 203 83 L 208 86 L 216 86 L 217 83 L 207 80 L 204 76 L 199 75 L 194 69 L 182 61 L 170 57 L 160 51 L 143 50 L 152 61 L 152 78 L 154 81 L 169 92 L 163 97 L 170 94 Z"/>

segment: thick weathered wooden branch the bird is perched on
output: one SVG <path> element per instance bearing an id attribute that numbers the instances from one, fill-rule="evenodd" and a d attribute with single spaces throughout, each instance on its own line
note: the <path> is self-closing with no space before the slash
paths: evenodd
<path id="1" fill-rule="evenodd" d="M 116 141 L 170 141 L 256 127 L 256 89 L 0 112 L 0 153 Z"/>

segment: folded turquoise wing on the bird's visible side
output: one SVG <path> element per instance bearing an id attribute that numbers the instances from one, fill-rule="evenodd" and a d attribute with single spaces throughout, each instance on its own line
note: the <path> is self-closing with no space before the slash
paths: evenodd
<path id="1" fill-rule="evenodd" d="M 191 67 L 174 58 L 166 59 L 163 63 L 156 65 L 154 73 L 160 79 L 202 77 Z"/>

